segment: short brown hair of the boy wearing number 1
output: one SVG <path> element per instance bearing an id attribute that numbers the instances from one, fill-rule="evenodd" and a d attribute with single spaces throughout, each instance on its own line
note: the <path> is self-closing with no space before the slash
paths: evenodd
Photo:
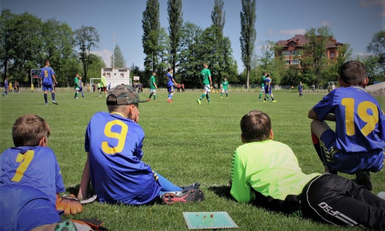
<path id="1" fill-rule="evenodd" d="M 51 134 L 46 120 L 37 114 L 26 114 L 16 119 L 12 127 L 12 137 L 16 147 L 39 146 L 39 141 Z"/>

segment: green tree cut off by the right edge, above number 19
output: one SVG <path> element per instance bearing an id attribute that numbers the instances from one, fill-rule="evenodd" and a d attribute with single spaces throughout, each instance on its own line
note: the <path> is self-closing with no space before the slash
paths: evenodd
<path id="1" fill-rule="evenodd" d="M 377 56 L 378 68 L 382 70 L 382 75 L 385 75 L 385 30 L 374 33 L 371 41 L 366 46 L 366 51 Z"/>

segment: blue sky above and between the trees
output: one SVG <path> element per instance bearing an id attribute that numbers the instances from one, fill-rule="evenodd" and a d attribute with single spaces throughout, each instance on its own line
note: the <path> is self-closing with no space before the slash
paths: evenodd
<path id="1" fill-rule="evenodd" d="M 241 0 L 224 0 L 226 11 L 225 36 L 229 36 L 233 56 L 243 69 L 240 48 Z M 385 0 L 257 0 L 256 49 L 264 40 L 283 40 L 304 34 L 310 27 L 330 27 L 339 42 L 348 42 L 353 55 L 366 53 L 373 34 L 385 30 Z M 119 44 L 128 66 L 143 68 L 143 34 L 141 19 L 145 0 L 0 0 L 0 8 L 14 13 L 29 12 L 43 20 L 55 17 L 67 22 L 74 30 L 81 25 L 94 26 L 100 42 L 94 53 L 110 64 L 115 28 L 115 43 Z M 160 24 L 168 27 L 167 0 L 159 0 Z M 202 28 L 211 25 L 214 0 L 183 0 L 183 20 Z"/>

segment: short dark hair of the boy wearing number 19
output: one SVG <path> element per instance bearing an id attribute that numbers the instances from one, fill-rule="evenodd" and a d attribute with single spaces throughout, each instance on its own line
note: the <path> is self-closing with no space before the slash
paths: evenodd
<path id="1" fill-rule="evenodd" d="M 339 68 L 339 76 L 348 85 L 362 85 L 366 78 L 366 67 L 359 61 L 347 61 Z"/>

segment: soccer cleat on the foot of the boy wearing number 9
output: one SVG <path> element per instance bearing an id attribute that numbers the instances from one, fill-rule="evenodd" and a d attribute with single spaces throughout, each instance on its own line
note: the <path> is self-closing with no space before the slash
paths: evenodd
<path id="1" fill-rule="evenodd" d="M 205 194 L 200 189 L 170 191 L 161 194 L 160 199 L 166 204 L 174 204 L 176 202 L 201 202 L 205 199 Z"/>

